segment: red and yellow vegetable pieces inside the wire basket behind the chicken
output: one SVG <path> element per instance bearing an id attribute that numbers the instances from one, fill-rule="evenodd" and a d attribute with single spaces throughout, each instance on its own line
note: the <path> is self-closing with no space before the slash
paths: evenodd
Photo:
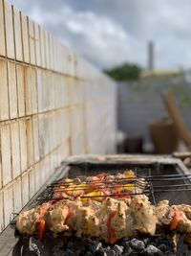
<path id="1" fill-rule="evenodd" d="M 142 194 L 147 185 L 148 182 L 133 171 L 64 178 L 54 184 L 53 199 L 80 197 L 83 201 L 87 198 L 102 201 L 106 197 L 130 198 L 130 194 Z"/>

